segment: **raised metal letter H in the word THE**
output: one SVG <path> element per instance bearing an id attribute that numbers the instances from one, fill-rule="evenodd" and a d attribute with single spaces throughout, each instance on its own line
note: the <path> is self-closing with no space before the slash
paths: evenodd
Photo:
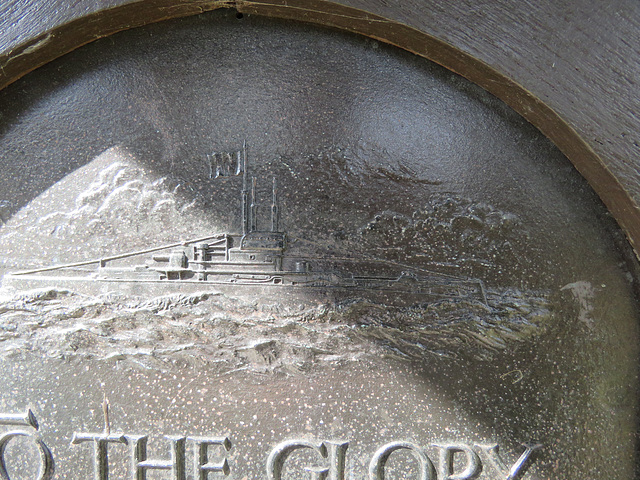
<path id="1" fill-rule="evenodd" d="M 186 438 L 172 435 L 165 435 L 164 438 L 171 442 L 171 460 L 148 459 L 148 437 L 126 436 L 127 442 L 131 446 L 132 480 L 146 480 L 147 470 L 171 470 L 171 476 L 174 480 L 186 480 Z"/>

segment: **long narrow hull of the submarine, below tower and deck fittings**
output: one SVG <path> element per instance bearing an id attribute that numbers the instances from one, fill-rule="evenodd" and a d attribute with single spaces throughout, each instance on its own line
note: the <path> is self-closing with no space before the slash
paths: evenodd
<path id="1" fill-rule="evenodd" d="M 130 296 L 162 296 L 174 293 L 210 291 L 227 297 L 261 303 L 337 304 L 349 300 L 410 307 L 446 299 L 471 300 L 486 304 L 482 285 L 473 281 L 451 281 L 437 277 L 416 279 L 310 275 L 298 272 L 247 272 L 208 274 L 197 278 L 158 278 L 156 272 L 117 272 L 86 275 L 6 274 L 4 288 L 30 290 L 62 288 L 84 295 L 110 292 Z M 135 273 L 136 278 L 131 278 Z M 141 274 L 142 273 L 142 274 Z M 193 272 L 185 272 L 192 275 Z"/>

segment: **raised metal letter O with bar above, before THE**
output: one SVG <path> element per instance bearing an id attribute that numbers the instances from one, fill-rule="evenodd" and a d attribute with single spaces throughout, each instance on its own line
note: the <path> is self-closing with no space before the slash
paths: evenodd
<path id="1" fill-rule="evenodd" d="M 38 422 L 31 410 L 27 410 L 26 412 L 19 414 L 2 413 L 0 414 L 0 425 L 32 427 L 35 430 L 38 430 Z M 55 469 L 51 450 L 49 450 L 49 447 L 47 447 L 42 439 L 35 437 L 32 432 L 25 430 L 12 430 L 0 435 L 0 478 L 2 480 L 10 480 L 9 473 L 7 472 L 5 450 L 9 441 L 15 437 L 30 437 L 38 446 L 38 451 L 40 453 L 40 470 L 38 472 L 37 479 L 50 480 L 53 478 Z"/>

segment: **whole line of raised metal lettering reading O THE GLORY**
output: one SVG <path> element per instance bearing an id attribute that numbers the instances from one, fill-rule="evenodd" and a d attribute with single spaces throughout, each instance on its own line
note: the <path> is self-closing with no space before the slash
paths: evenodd
<path id="1" fill-rule="evenodd" d="M 38 423 L 33 413 L 28 410 L 21 414 L 1 414 L 0 425 L 21 425 L 38 429 Z M 12 430 L 0 434 L 0 480 L 11 480 L 5 462 L 5 451 L 11 439 L 15 437 L 30 437 L 33 439 L 40 454 L 40 469 L 33 480 L 52 480 L 54 475 L 54 460 L 51 451 L 45 443 L 33 433 L 25 430 Z M 147 480 L 149 470 L 169 470 L 172 480 L 186 480 L 186 442 L 193 443 L 193 479 L 211 480 L 211 474 L 230 474 L 226 453 L 231 450 L 231 441 L 226 436 L 169 436 L 164 438 L 170 442 L 170 459 L 150 459 L 147 454 L 149 437 L 146 435 L 110 434 L 76 432 L 71 443 L 74 445 L 91 442 L 94 449 L 95 480 L 109 479 L 109 444 L 124 444 L 130 449 L 130 479 Z M 425 451 L 419 445 L 405 441 L 394 441 L 378 448 L 373 454 L 368 466 L 368 480 L 384 480 L 385 467 L 391 455 L 399 450 L 408 450 L 418 461 L 419 480 L 473 480 L 483 472 L 481 457 L 487 459 L 489 465 L 496 471 L 499 478 L 504 480 L 519 480 L 527 469 L 535 451 L 542 448 L 539 444 L 525 444 L 525 451 L 518 460 L 508 468 L 499 455 L 497 444 L 464 444 L 464 443 L 433 443 L 439 449 L 438 470 Z M 213 447 L 221 448 L 221 455 L 212 455 Z M 307 465 L 304 470 L 310 473 L 310 480 L 345 480 L 346 454 L 349 448 L 347 441 L 312 441 L 293 439 L 284 441 L 271 451 L 267 458 L 267 480 L 282 480 L 283 467 L 289 456 L 296 450 L 311 450 L 316 455 L 318 463 Z M 480 456 L 478 455 L 480 454 Z M 191 477 L 190 477 L 191 478 Z"/>

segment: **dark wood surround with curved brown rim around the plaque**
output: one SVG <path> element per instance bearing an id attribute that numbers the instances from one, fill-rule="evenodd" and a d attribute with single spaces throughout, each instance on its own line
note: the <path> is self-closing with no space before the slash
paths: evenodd
<path id="1" fill-rule="evenodd" d="M 0 88 L 97 38 L 223 7 L 370 36 L 480 85 L 560 148 L 640 250 L 640 7 L 630 0 L 12 0 L 0 7 Z"/>

